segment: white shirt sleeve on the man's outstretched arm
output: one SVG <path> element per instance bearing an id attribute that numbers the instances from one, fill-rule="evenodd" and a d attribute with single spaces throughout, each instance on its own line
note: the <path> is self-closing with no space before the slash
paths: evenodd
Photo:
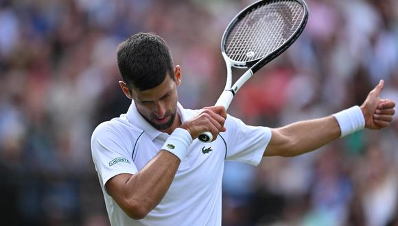
<path id="1" fill-rule="evenodd" d="M 257 166 L 271 139 L 271 129 L 246 125 L 239 118 L 226 118 L 227 150 L 226 160 L 246 162 Z"/>

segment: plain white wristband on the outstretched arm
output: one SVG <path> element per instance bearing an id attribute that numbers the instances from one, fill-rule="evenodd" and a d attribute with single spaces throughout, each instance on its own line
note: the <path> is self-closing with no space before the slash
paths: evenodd
<path id="1" fill-rule="evenodd" d="M 358 106 L 353 106 L 352 108 L 342 110 L 333 116 L 338 121 L 340 126 L 341 136 L 347 136 L 355 131 L 364 129 L 365 118 L 362 110 Z"/>

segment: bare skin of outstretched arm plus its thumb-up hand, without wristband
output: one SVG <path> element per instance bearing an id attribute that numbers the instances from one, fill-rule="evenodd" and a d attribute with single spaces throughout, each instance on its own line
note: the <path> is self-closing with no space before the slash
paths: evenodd
<path id="1" fill-rule="evenodd" d="M 394 101 L 379 99 L 383 87 L 384 81 L 380 81 L 360 107 L 368 129 L 382 129 L 393 121 Z M 301 155 L 340 138 L 340 135 L 340 125 L 334 116 L 293 123 L 272 129 L 272 138 L 264 156 Z"/>

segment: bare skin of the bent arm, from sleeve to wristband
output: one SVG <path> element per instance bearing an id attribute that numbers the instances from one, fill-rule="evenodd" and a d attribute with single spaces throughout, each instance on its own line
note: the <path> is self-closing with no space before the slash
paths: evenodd
<path id="1" fill-rule="evenodd" d="M 180 160 L 160 151 L 137 174 L 119 174 L 106 182 L 106 189 L 131 218 L 144 218 L 158 205 L 172 184 Z"/>

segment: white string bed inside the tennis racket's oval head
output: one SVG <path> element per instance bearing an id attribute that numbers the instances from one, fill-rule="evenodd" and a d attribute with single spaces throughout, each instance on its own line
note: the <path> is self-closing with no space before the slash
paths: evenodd
<path id="1" fill-rule="evenodd" d="M 226 37 L 226 55 L 238 62 L 263 58 L 296 32 L 303 14 L 303 6 L 294 1 L 272 1 L 257 6 L 231 29 Z"/>

